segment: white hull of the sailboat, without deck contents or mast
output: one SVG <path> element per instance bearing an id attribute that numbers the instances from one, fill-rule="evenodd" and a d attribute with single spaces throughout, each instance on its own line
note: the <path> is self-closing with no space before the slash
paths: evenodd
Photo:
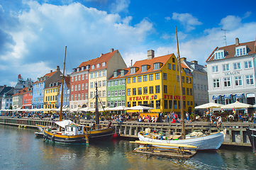
<path id="1" fill-rule="evenodd" d="M 157 140 L 152 139 L 150 137 L 144 137 L 143 135 L 138 133 L 138 138 L 141 141 L 144 142 L 160 142 L 165 144 L 182 144 L 182 145 L 191 145 L 194 147 L 197 147 L 196 150 L 217 150 L 219 147 L 221 147 L 224 138 L 226 136 L 226 130 L 223 130 L 222 132 L 215 132 L 211 135 L 205 135 L 201 137 L 190 137 L 184 140 Z M 155 147 L 160 147 L 157 145 L 154 145 Z M 172 147 L 169 147 L 172 148 Z M 194 150 L 193 148 L 184 148 L 187 150 Z"/>

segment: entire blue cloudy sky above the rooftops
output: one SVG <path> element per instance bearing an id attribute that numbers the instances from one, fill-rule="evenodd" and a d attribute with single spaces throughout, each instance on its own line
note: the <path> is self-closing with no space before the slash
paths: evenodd
<path id="1" fill-rule="evenodd" d="M 206 59 L 216 47 L 256 38 L 256 1 L 0 0 L 0 85 L 18 74 L 36 81 L 57 66 L 70 74 L 82 62 L 119 50 L 127 67 L 174 53 Z M 226 35 L 226 37 L 225 37 Z M 226 40 L 225 40 L 226 39 Z"/>

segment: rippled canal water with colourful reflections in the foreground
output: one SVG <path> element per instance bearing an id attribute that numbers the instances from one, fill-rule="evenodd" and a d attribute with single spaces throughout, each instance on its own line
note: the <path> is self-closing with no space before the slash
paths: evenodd
<path id="1" fill-rule="evenodd" d="M 59 145 L 35 137 L 35 130 L 0 125 L 1 169 L 256 169 L 252 149 L 198 152 L 191 159 L 135 154 L 128 140 Z"/>

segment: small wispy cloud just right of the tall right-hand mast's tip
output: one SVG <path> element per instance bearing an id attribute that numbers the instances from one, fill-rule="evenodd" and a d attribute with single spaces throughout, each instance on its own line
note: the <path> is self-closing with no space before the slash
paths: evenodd
<path id="1" fill-rule="evenodd" d="M 172 19 L 181 22 L 187 31 L 194 30 L 195 26 L 199 26 L 201 23 L 196 17 L 189 13 L 172 13 Z"/>

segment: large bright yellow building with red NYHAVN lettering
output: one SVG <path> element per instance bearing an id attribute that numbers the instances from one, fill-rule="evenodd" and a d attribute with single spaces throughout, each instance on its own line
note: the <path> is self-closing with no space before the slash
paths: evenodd
<path id="1" fill-rule="evenodd" d="M 148 50 L 148 59 L 135 62 L 126 74 L 127 106 L 155 108 L 150 112 L 170 112 L 173 109 L 179 113 L 181 98 L 177 65 L 174 54 L 155 57 L 154 51 Z M 192 75 L 183 69 L 182 86 L 184 111 L 191 112 L 194 106 Z"/>

